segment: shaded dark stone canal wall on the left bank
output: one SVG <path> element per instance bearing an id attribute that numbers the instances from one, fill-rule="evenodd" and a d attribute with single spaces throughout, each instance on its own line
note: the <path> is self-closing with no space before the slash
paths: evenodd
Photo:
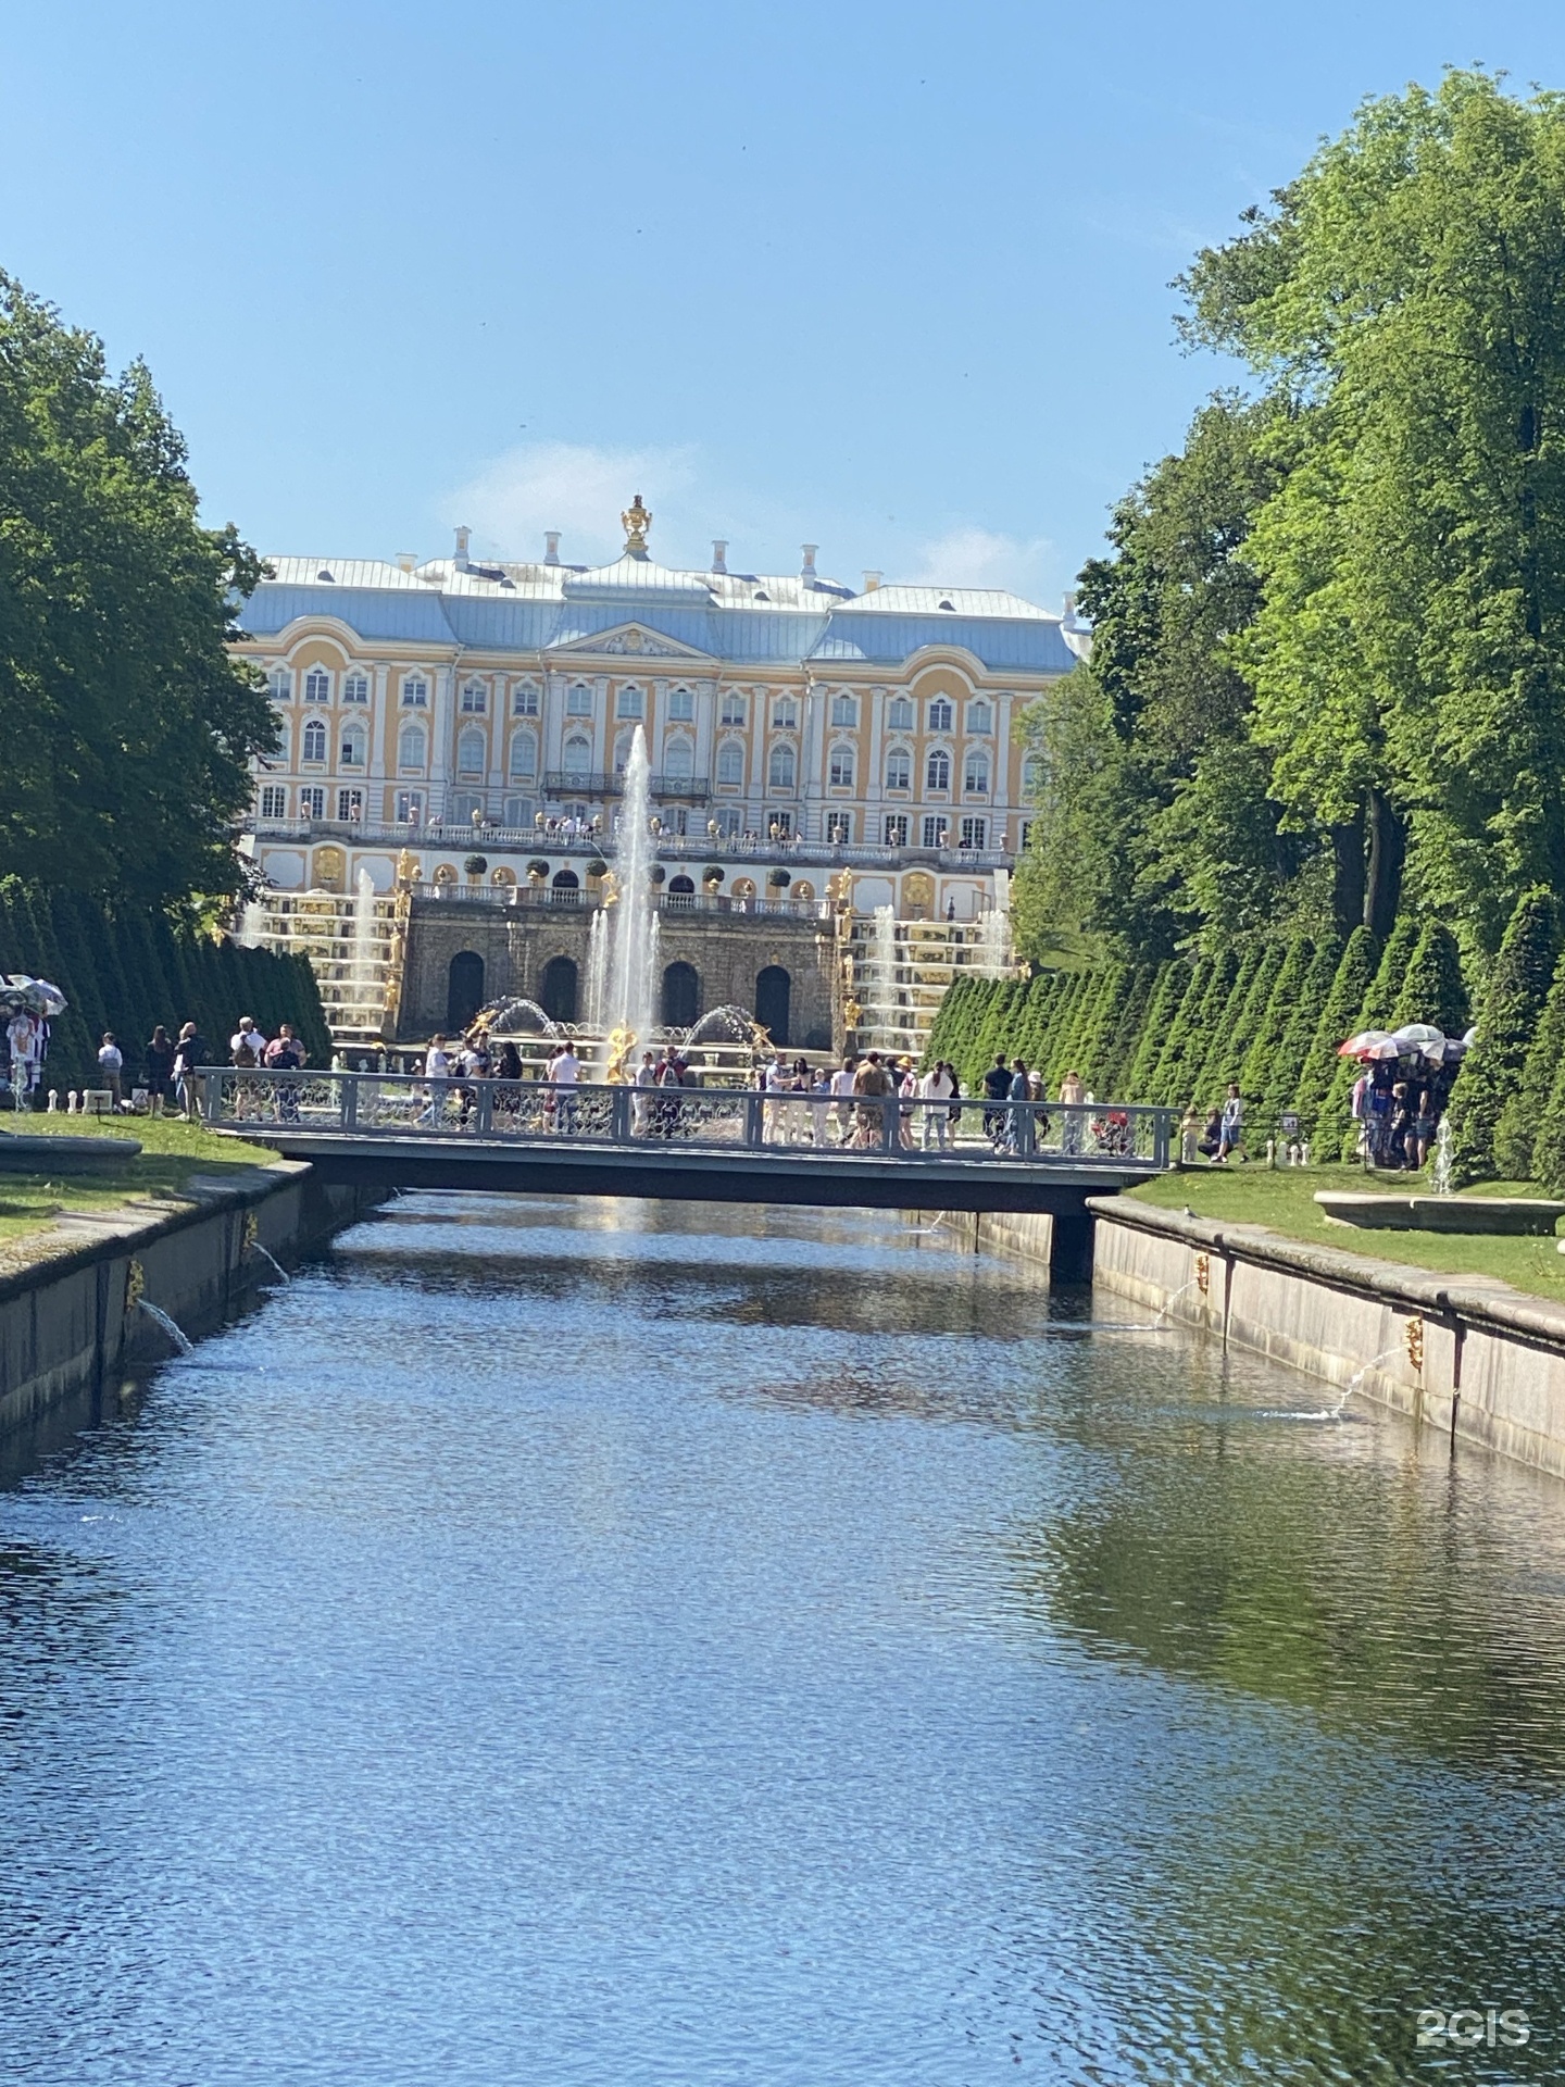
<path id="1" fill-rule="evenodd" d="M 198 1175 L 190 1202 L 73 1213 L 79 1244 L 0 1275 L 0 1432 L 42 1421 L 117 1373 L 169 1354 L 146 1298 L 188 1336 L 221 1323 L 246 1292 L 351 1225 L 380 1192 L 317 1181 L 298 1160 Z"/>

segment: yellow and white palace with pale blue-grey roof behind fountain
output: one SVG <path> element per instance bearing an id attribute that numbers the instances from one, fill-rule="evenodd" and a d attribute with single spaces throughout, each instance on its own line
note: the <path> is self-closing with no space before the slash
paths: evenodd
<path id="1" fill-rule="evenodd" d="M 670 899 L 979 922 L 1008 906 L 1029 760 L 1012 720 L 1087 645 L 1073 618 L 958 586 L 659 566 L 651 515 L 574 566 L 275 557 L 240 614 L 282 751 L 242 847 L 286 895 L 586 899 L 647 737 Z M 482 870 L 474 864 L 482 860 Z M 699 889 L 697 889 L 699 883 Z M 282 914 L 296 908 L 282 906 Z M 286 939 L 286 937 L 284 937 Z"/>

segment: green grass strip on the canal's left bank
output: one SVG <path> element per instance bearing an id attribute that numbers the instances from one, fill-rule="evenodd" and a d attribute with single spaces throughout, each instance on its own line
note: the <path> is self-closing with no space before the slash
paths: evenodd
<path id="1" fill-rule="evenodd" d="M 267 1152 L 217 1137 L 182 1117 L 125 1117 L 119 1123 L 83 1123 L 79 1117 L 4 1117 L 0 1140 L 8 1131 L 48 1137 L 102 1135 L 125 1146 L 125 1158 L 100 1173 L 6 1173 L 0 1171 L 0 1267 L 19 1267 L 48 1254 L 67 1236 L 52 1229 L 61 1210 L 106 1210 L 146 1198 L 179 1202 L 188 1196 L 190 1175 L 221 1175 L 265 1165 Z M 142 1146 L 131 1152 L 129 1146 Z"/>

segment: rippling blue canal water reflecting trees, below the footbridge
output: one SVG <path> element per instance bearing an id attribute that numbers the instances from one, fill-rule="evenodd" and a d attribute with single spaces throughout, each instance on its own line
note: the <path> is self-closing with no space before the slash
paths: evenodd
<path id="1" fill-rule="evenodd" d="M 1565 1494 L 1143 1323 L 348 1233 L 0 1490 L 0 2079 L 1565 2077 Z"/>

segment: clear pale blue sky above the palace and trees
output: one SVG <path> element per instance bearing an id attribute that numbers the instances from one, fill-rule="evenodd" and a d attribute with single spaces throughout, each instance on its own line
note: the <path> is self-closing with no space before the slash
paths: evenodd
<path id="1" fill-rule="evenodd" d="M 1010 584 L 1050 605 L 1225 371 L 1169 280 L 1565 10 L 86 0 L 0 27 L 0 267 L 146 357 L 269 551 Z"/>

